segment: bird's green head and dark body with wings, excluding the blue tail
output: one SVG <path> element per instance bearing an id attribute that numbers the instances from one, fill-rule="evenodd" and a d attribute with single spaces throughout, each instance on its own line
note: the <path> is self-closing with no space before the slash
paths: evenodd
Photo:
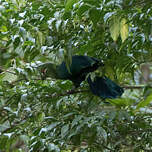
<path id="1" fill-rule="evenodd" d="M 39 66 L 42 79 L 51 77 L 54 79 L 71 80 L 77 88 L 81 82 L 85 80 L 89 72 L 97 70 L 99 66 L 103 66 L 103 62 L 99 59 L 83 55 L 72 56 L 72 63 L 68 70 L 66 63 L 63 61 L 60 65 L 53 63 L 44 63 Z"/>

